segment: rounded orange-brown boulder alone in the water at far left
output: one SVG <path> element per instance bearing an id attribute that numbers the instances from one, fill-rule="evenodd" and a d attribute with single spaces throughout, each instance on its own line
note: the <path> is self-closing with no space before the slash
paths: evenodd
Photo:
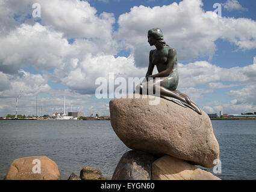
<path id="1" fill-rule="evenodd" d="M 60 180 L 60 172 L 48 157 L 24 157 L 11 163 L 5 180 Z"/>

